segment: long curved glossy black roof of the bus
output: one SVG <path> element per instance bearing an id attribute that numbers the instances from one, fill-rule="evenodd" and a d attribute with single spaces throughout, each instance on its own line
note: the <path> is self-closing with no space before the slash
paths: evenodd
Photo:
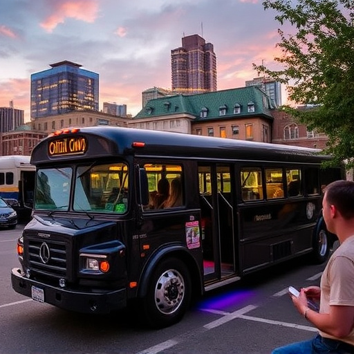
<path id="1" fill-rule="evenodd" d="M 80 160 L 107 156 L 136 155 L 183 158 L 217 158 L 225 160 L 269 160 L 283 162 L 315 162 L 330 159 L 319 149 L 227 138 L 196 136 L 165 131 L 121 127 L 85 127 L 77 133 L 66 133 L 41 140 L 32 151 L 31 163 L 53 160 L 75 160 L 77 153 L 48 156 L 50 143 L 64 142 L 77 137 L 87 140 L 87 149 Z M 141 143 L 141 144 L 134 144 Z"/>

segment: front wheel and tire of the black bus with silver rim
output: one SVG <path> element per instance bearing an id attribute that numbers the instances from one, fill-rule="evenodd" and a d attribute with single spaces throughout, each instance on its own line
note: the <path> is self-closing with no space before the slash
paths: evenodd
<path id="1" fill-rule="evenodd" d="M 160 262 L 149 281 L 143 300 L 145 321 L 162 328 L 182 319 L 192 297 L 192 282 L 188 268 L 180 259 Z"/>

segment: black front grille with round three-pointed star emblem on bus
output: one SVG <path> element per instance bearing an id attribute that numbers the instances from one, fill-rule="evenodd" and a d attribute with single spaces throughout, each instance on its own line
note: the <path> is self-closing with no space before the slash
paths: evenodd
<path id="1" fill-rule="evenodd" d="M 66 245 L 64 242 L 30 240 L 28 261 L 31 273 L 49 277 L 66 277 Z"/>

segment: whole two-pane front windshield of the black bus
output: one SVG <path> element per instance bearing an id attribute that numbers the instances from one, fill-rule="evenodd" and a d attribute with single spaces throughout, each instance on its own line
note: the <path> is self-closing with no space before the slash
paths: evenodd
<path id="1" fill-rule="evenodd" d="M 73 209 L 81 212 L 124 213 L 128 201 L 128 167 L 124 163 L 39 169 L 35 209 L 70 209 L 72 176 Z"/>

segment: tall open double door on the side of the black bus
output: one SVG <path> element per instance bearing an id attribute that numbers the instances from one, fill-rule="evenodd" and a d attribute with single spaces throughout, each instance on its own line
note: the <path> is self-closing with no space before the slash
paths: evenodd
<path id="1" fill-rule="evenodd" d="M 236 273 L 231 178 L 228 165 L 198 166 L 205 281 L 222 280 Z"/>

